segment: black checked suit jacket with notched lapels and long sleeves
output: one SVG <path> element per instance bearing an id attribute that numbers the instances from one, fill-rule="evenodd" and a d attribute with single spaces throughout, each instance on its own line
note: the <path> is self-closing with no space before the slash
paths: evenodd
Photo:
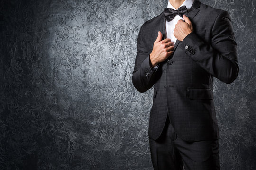
<path id="1" fill-rule="evenodd" d="M 229 84 L 238 76 L 237 43 L 229 13 L 195 0 L 187 17 L 194 31 L 176 41 L 172 56 L 155 72 L 149 65 L 149 54 L 158 31 L 165 35 L 164 13 L 146 21 L 138 34 L 132 82 L 139 92 L 154 85 L 148 129 L 153 139 L 163 131 L 168 113 L 183 140 L 218 139 L 213 77 Z"/>

